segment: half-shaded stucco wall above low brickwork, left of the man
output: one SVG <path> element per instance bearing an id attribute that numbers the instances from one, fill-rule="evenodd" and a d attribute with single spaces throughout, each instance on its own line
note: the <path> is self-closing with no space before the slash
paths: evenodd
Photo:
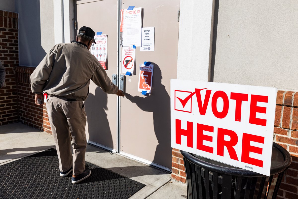
<path id="1" fill-rule="evenodd" d="M 19 13 L 19 63 L 36 67 L 54 45 L 53 1 L 16 0 L 15 10 Z"/>

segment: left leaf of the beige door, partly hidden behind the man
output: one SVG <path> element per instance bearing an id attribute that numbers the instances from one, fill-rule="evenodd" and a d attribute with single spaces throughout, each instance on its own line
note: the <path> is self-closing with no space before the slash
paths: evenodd
<path id="1" fill-rule="evenodd" d="M 77 1 L 78 30 L 91 27 L 95 33 L 103 32 L 108 37 L 107 74 L 111 78 L 117 73 L 117 12 L 118 0 Z M 85 101 L 87 114 L 86 135 L 92 144 L 117 150 L 117 96 L 107 95 L 92 81 Z"/>

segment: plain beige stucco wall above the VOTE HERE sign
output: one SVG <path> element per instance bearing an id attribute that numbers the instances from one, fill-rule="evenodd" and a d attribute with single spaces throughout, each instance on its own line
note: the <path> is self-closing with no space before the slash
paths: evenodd
<path id="1" fill-rule="evenodd" d="M 297 90 L 297 1 L 219 0 L 214 82 Z"/>

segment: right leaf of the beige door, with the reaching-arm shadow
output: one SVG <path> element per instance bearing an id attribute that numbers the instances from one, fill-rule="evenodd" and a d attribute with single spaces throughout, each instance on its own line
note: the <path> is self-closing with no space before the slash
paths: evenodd
<path id="1" fill-rule="evenodd" d="M 142 7 L 143 27 L 155 27 L 154 52 L 136 47 L 136 75 L 126 76 L 121 98 L 120 153 L 170 170 L 170 79 L 177 75 L 179 0 L 122 0 L 122 9 Z M 153 64 L 149 96 L 138 92 L 139 64 Z M 131 96 L 130 96 L 131 95 Z M 129 99 L 129 100 L 128 100 Z"/>

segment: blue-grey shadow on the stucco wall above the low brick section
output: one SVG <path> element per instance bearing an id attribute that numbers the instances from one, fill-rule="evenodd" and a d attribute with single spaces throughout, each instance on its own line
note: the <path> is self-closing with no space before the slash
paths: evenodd
<path id="1" fill-rule="evenodd" d="M 15 12 L 19 13 L 19 63 L 36 67 L 46 55 L 41 46 L 40 2 L 16 0 Z M 49 33 L 52 34 L 54 30 Z"/>

